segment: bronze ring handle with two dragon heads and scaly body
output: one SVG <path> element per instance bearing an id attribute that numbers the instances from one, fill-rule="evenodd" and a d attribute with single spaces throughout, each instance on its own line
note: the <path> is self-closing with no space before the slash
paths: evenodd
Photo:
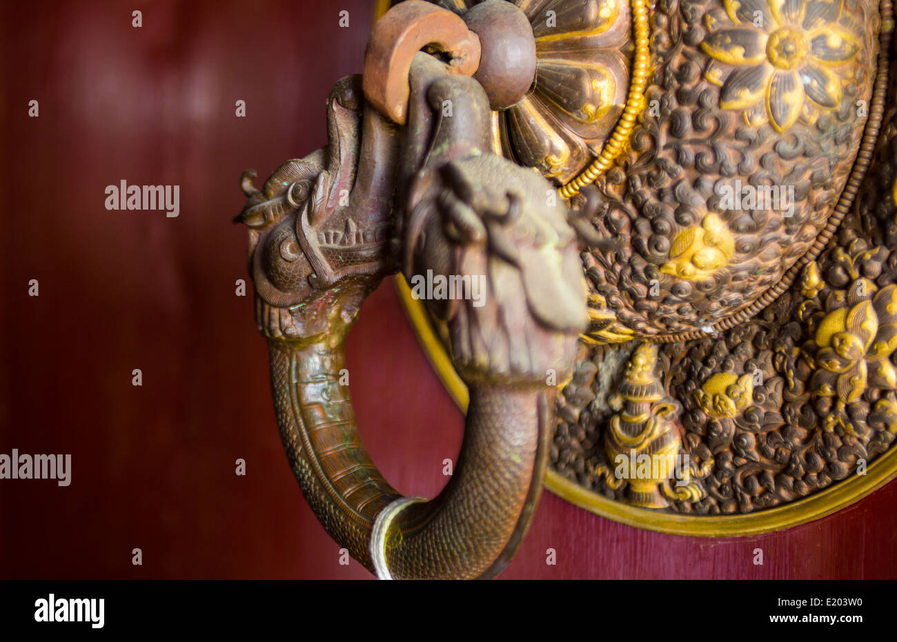
<path id="1" fill-rule="evenodd" d="M 471 390 L 457 468 L 437 498 L 396 516 L 385 560 L 392 577 L 492 577 L 535 512 L 553 377 L 570 376 L 588 325 L 580 247 L 566 206 L 545 197 L 551 184 L 489 152 L 480 84 L 423 53 L 410 76 L 406 129 L 361 104 L 357 78 L 338 82 L 327 147 L 287 162 L 262 190 L 245 173 L 238 220 L 249 226 L 283 446 L 327 532 L 371 569 L 377 517 L 400 495 L 358 435 L 345 336 L 364 298 L 400 264 L 412 283 L 425 274 L 476 281 L 482 296 L 468 286 L 467 295 L 428 300 Z M 410 180 L 407 198 L 403 190 L 396 200 L 396 174 Z"/>

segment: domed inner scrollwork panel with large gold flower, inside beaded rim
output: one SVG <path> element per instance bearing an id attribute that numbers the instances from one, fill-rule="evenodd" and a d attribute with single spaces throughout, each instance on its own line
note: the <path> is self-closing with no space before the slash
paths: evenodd
<path id="1" fill-rule="evenodd" d="M 674 341 L 746 320 L 843 216 L 835 204 L 868 113 L 879 17 L 856 2 L 752 1 L 763 26 L 745 25 L 751 3 L 675 0 L 651 15 L 648 105 L 629 152 L 596 183 L 598 233 L 628 243 L 584 256 L 593 292 L 636 336 Z M 782 30 L 798 27 L 806 52 L 788 62 L 782 52 L 797 45 Z M 797 78 L 788 105 L 810 117 L 777 111 L 785 75 Z M 776 116 L 762 120 L 755 104 Z"/>

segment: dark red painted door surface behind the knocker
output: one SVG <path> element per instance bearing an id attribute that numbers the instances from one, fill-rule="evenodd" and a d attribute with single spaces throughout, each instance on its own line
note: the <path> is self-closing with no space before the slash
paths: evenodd
<path id="1" fill-rule="evenodd" d="M 326 142 L 325 98 L 361 71 L 372 3 L 0 6 L 0 453 L 73 457 L 67 488 L 0 481 L 0 577 L 370 577 L 338 563 L 292 479 L 251 289 L 235 296 L 246 231 L 231 217 L 242 169 L 264 179 Z M 123 178 L 180 185 L 179 217 L 107 211 L 104 189 Z M 391 282 L 349 343 L 374 459 L 398 490 L 434 495 L 463 418 Z M 502 577 L 897 577 L 895 502 L 891 484 L 784 533 L 708 540 L 618 525 L 546 493 Z"/>

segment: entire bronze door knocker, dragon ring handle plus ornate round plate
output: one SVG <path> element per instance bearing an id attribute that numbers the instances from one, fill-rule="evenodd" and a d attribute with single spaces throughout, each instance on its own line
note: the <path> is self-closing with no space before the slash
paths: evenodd
<path id="1" fill-rule="evenodd" d="M 890 0 L 405 0 L 328 143 L 241 178 L 283 446 L 379 577 L 494 577 L 545 482 L 670 533 L 761 533 L 897 473 Z M 891 100 L 887 100 L 888 95 Z M 466 406 L 404 498 L 344 340 L 399 273 Z"/>

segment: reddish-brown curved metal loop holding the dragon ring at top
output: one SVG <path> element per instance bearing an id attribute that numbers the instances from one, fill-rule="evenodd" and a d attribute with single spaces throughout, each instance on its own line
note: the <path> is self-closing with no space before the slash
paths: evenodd
<path id="1" fill-rule="evenodd" d="M 370 104 L 399 125 L 405 125 L 411 61 L 424 47 L 450 56 L 452 74 L 473 75 L 480 63 L 480 40 L 457 15 L 423 0 L 396 4 L 370 34 L 363 86 Z"/>

